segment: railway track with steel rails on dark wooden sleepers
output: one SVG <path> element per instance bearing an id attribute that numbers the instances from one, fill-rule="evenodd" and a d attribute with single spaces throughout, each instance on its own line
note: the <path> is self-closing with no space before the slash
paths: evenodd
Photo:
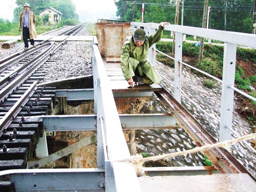
<path id="1" fill-rule="evenodd" d="M 60 35 L 74 35 L 84 25 Z M 28 160 L 36 157 L 42 120 L 30 117 L 50 114 L 55 103 L 55 88 L 37 83 L 44 79 L 42 66 L 57 59 L 53 55 L 61 51 L 66 39 L 58 44 L 47 39 L 37 48 L 0 60 L 0 170 L 27 168 Z"/>

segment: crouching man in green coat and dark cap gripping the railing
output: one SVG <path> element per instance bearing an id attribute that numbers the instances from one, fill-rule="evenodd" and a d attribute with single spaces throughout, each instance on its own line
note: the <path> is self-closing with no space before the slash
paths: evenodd
<path id="1" fill-rule="evenodd" d="M 143 29 L 136 29 L 133 36 L 127 37 L 122 47 L 121 69 L 125 80 L 131 87 L 138 84 L 159 83 L 161 77 L 156 68 L 147 59 L 148 49 L 159 41 L 163 34 L 162 22 L 154 35 L 147 36 Z"/>

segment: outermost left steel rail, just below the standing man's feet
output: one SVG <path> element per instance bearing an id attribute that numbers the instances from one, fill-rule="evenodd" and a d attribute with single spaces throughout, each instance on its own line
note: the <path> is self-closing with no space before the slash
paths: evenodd
<path id="1" fill-rule="evenodd" d="M 4 62 L 0 65 L 0 72 L 2 72 L 5 68 L 9 67 L 10 65 L 13 65 L 15 62 L 18 62 L 18 61 L 26 58 L 27 56 L 37 52 L 38 50 L 40 50 L 48 45 L 49 45 L 49 42 L 47 44 L 38 46 L 37 48 L 34 48 L 32 50 L 22 52 L 21 54 L 17 55 L 16 57 L 11 58 L 10 60 L 7 60 L 6 62 Z"/>

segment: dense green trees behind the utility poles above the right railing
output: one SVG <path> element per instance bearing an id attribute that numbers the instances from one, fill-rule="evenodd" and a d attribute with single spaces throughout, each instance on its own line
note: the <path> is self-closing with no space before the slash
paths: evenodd
<path id="1" fill-rule="evenodd" d="M 144 20 L 146 22 L 160 23 L 166 21 L 174 24 L 176 1 L 137 0 L 135 2 L 115 0 L 116 15 L 123 20 L 132 21 L 132 10 L 135 7 L 134 20 L 140 21 L 141 4 L 144 3 Z M 135 6 L 133 6 L 134 3 Z M 253 3 L 254 0 L 208 0 L 208 6 L 211 6 L 209 28 L 251 33 Z M 203 10 L 204 1 L 186 0 L 183 24 L 185 26 L 202 27 Z M 180 19 L 181 16 L 179 16 Z"/>

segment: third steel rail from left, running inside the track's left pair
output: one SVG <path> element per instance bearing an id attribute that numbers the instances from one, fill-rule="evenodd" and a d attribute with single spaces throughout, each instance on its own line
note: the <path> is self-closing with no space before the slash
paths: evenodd
<path id="1" fill-rule="evenodd" d="M 39 61 L 35 63 L 31 68 L 29 68 L 26 72 L 18 76 L 16 79 L 14 79 L 11 83 L 9 83 L 5 88 L 3 88 L 0 91 L 0 100 L 3 100 L 8 94 L 10 94 L 14 89 L 16 89 L 20 84 L 25 82 L 27 79 L 26 77 L 30 76 L 34 70 L 36 70 L 41 63 L 45 62 L 46 59 L 50 57 L 50 51 L 54 46 L 54 42 L 52 42 L 52 45 L 44 52 L 45 56 L 42 57 Z"/>

